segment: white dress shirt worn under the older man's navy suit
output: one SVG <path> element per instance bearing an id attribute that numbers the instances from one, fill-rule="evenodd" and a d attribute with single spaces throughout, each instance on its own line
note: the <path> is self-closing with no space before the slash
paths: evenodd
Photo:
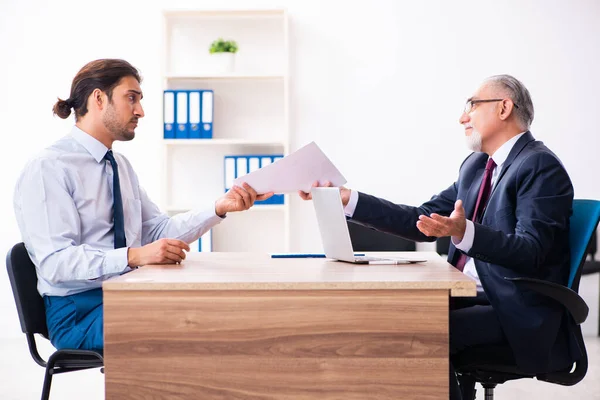
<path id="1" fill-rule="evenodd" d="M 496 163 L 496 167 L 492 171 L 492 190 L 494 188 L 494 185 L 496 184 L 496 181 L 498 180 L 498 176 L 500 176 L 500 171 L 502 171 L 502 167 L 504 166 L 504 162 L 508 158 L 510 151 L 512 150 L 515 143 L 517 143 L 519 138 L 521 136 L 523 136 L 524 134 L 525 134 L 525 132 L 521 132 L 520 134 L 511 138 L 510 140 L 505 142 L 502 146 L 500 146 L 500 148 L 498 150 L 496 150 L 496 152 L 492 155 L 492 159 Z M 490 193 L 490 196 L 491 196 L 491 193 Z M 488 199 L 488 201 L 489 201 L 489 199 Z M 358 203 L 358 192 L 355 190 L 352 190 L 350 192 L 350 200 L 348 201 L 348 205 L 346 205 L 346 207 L 344 208 L 344 213 L 348 217 L 352 217 L 352 215 L 354 215 L 354 211 L 356 210 L 357 203 Z M 475 226 L 473 225 L 473 222 L 469 219 L 467 219 L 467 228 L 465 230 L 465 235 L 463 236 L 462 241 L 459 242 L 457 238 L 452 237 L 452 243 L 456 246 L 456 248 L 464 251 L 465 253 L 468 253 L 469 250 L 471 250 L 474 240 L 475 240 Z M 481 281 L 479 280 L 479 276 L 477 275 L 477 269 L 475 268 L 475 262 L 473 261 L 473 259 L 471 257 L 467 257 L 467 263 L 465 264 L 465 268 L 463 269 L 463 272 L 465 274 L 467 274 L 468 276 L 470 276 L 471 278 L 473 278 L 475 280 L 475 282 L 477 282 L 477 287 L 481 288 Z"/>

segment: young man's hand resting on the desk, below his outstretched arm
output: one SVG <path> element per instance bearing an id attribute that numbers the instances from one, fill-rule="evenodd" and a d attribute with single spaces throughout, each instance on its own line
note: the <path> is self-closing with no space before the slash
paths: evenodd
<path id="1" fill-rule="evenodd" d="M 127 265 L 139 267 L 148 264 L 176 264 L 185 260 L 184 251 L 190 251 L 187 243 L 177 239 L 159 239 L 143 247 L 130 247 Z"/>

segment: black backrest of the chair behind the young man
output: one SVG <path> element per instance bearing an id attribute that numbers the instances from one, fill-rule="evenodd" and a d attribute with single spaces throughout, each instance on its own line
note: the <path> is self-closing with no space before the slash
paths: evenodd
<path id="1" fill-rule="evenodd" d="M 48 337 L 46 308 L 37 291 L 37 274 L 24 243 L 18 243 L 6 256 L 6 269 L 12 286 L 21 330 L 23 333 L 39 333 Z"/>

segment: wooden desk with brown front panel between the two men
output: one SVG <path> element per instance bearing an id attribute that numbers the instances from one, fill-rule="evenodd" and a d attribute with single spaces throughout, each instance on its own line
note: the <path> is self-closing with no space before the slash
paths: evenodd
<path id="1" fill-rule="evenodd" d="M 447 399 L 448 298 L 476 287 L 420 254 L 190 254 L 107 281 L 106 399 Z"/>

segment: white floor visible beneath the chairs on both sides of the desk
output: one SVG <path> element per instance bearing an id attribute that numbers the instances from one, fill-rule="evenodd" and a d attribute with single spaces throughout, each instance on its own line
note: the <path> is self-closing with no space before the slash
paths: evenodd
<path id="1" fill-rule="evenodd" d="M 590 317 L 584 324 L 589 358 L 587 376 L 572 387 L 527 379 L 505 383 L 496 389 L 498 399 L 544 400 L 600 399 L 600 337 L 598 327 L 598 277 L 585 277 L 580 293 L 590 306 Z M 46 342 L 47 343 L 47 342 Z M 42 346 L 42 355 L 50 352 L 49 345 Z M 0 345 L 0 398 L 3 400 L 39 399 L 43 370 L 28 354 L 25 337 L 3 339 Z M 57 375 L 52 382 L 53 400 L 101 400 L 104 398 L 104 376 L 100 370 L 80 371 Z M 477 399 L 483 400 L 479 388 Z"/>

